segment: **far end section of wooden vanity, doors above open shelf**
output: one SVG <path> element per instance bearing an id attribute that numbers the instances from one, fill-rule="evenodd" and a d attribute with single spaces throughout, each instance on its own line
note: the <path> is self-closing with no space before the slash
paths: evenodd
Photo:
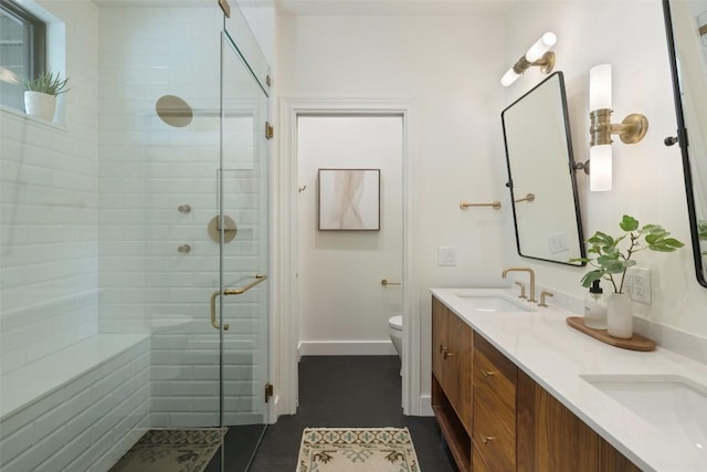
<path id="1" fill-rule="evenodd" d="M 460 471 L 472 466 L 474 332 L 432 297 L 432 409 Z"/>

